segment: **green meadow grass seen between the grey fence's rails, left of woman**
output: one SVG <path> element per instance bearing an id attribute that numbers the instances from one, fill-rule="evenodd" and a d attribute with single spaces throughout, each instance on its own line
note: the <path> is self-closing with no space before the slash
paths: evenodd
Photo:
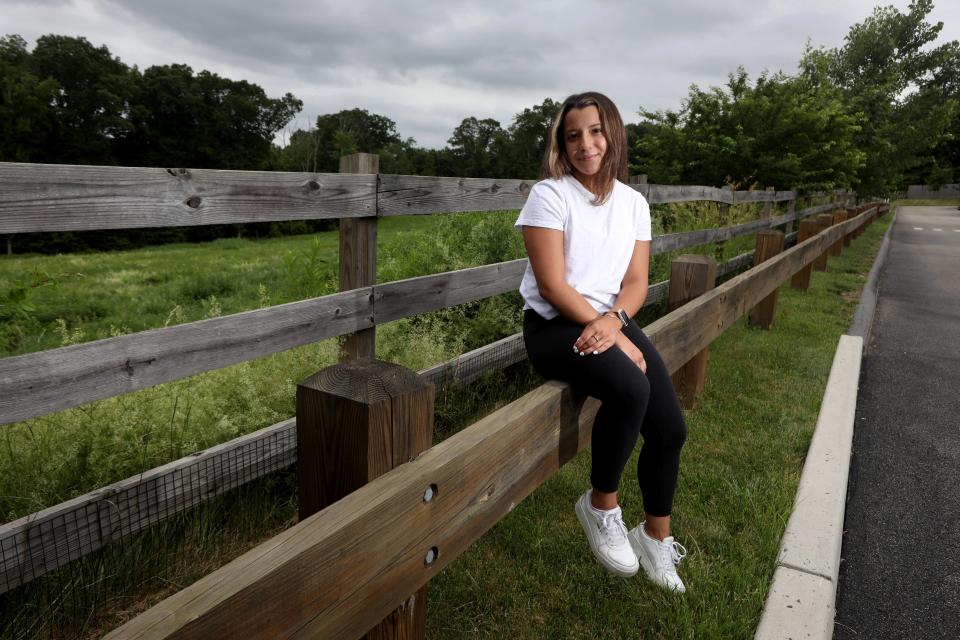
<path id="1" fill-rule="evenodd" d="M 515 219 L 516 212 L 385 219 L 378 281 L 518 257 L 523 247 L 511 226 Z M 5 324 L 15 344 L 0 356 L 331 293 L 337 253 L 336 232 L 329 232 L 6 257 L 0 259 L 4 285 L 36 282 L 36 273 L 52 284 L 28 290 L 28 304 L 21 303 L 28 310 Z M 3 289 L 0 300 L 9 301 Z M 518 331 L 517 299 L 507 294 L 382 325 L 378 355 L 414 370 L 452 358 Z M 296 383 L 336 362 L 337 344 L 327 340 L 2 427 L 0 519 L 290 417 Z"/>

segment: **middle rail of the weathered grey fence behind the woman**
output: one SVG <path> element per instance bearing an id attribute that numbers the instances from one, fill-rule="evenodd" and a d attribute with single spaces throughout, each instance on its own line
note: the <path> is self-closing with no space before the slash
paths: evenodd
<path id="1" fill-rule="evenodd" d="M 819 205 L 769 220 L 657 236 L 651 253 L 727 240 L 832 208 L 835 205 Z M 398 280 L 221 318 L 2 358 L 0 425 L 515 291 L 526 262 L 524 258 Z"/>

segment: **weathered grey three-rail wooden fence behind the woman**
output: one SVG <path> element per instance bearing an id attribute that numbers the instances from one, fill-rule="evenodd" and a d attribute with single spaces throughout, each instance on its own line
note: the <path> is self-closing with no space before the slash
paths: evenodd
<path id="1" fill-rule="evenodd" d="M 369 159 L 359 154 L 355 163 Z M 349 169 L 350 163 L 347 163 Z M 369 166 L 369 164 L 368 164 Z M 518 208 L 532 181 L 432 178 L 382 174 L 298 174 L 123 167 L 65 167 L 0 164 L 0 233 L 52 230 L 156 227 L 190 224 L 350 218 L 365 223 L 388 215 Z M 710 187 L 631 185 L 651 203 L 710 200 L 730 205 L 788 201 L 779 217 L 721 229 L 655 238 L 652 252 L 791 225 L 832 210 L 828 203 L 795 210 L 792 191 L 738 192 Z M 827 194 L 818 194 L 827 195 Z M 839 194 L 844 197 L 845 194 Z M 769 208 L 767 209 L 769 215 Z M 374 230 L 375 234 L 375 230 Z M 374 235 L 375 237 L 375 235 Z M 346 257 L 344 257 L 346 256 Z M 375 264 L 375 242 L 364 251 L 342 251 L 344 260 Z M 732 270 L 749 260 L 740 256 L 724 265 Z M 96 342 L 0 360 L 0 424 L 77 406 L 201 371 L 243 362 L 316 340 L 371 329 L 408 317 L 515 290 L 525 260 L 369 284 L 330 296 L 224 318 L 145 331 Z M 351 265 L 346 265 L 349 269 Z M 343 268 L 341 273 L 343 273 Z M 651 287 L 649 302 L 662 299 L 667 283 Z M 472 362 L 489 359 L 493 350 L 504 359 L 522 359 L 522 342 L 511 336 L 444 365 L 423 372 L 442 382 L 479 375 Z M 498 361 L 501 366 L 503 360 Z M 460 375 L 464 372 L 466 375 Z M 200 465 L 215 459 L 270 461 L 269 471 L 292 462 L 295 421 L 287 420 L 220 445 L 201 455 L 170 463 L 142 476 L 81 496 L 0 528 L 4 554 L 0 591 L 89 553 L 177 511 L 237 486 Z M 222 465 L 208 465 L 219 469 Z M 193 471 L 197 471 L 194 473 Z M 172 484 L 179 490 L 168 492 Z M 131 497 L 163 496 L 154 515 L 134 517 Z M 126 499 L 121 499 L 126 498 Z M 104 503 L 109 508 L 104 508 Z M 149 500 L 148 500 L 149 502 Z M 106 512 L 106 513 L 105 513 Z M 81 522 L 78 513 L 86 514 Z M 159 515 L 157 515 L 159 514 Z M 73 525 L 71 526 L 71 516 Z M 46 527 L 44 526 L 46 525 Z M 85 528 L 85 529 L 84 529 Z M 64 543 L 71 532 L 81 543 Z M 59 536 L 59 538 L 57 537 Z M 4 547 L 4 543 L 8 543 Z"/>

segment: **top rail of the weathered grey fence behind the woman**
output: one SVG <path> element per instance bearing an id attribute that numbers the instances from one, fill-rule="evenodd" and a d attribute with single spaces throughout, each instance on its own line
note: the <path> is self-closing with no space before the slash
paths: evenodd
<path id="1" fill-rule="evenodd" d="M 0 162 L 0 234 L 500 211 L 522 207 L 535 182 Z M 651 204 L 799 197 L 796 191 L 630 186 Z"/>

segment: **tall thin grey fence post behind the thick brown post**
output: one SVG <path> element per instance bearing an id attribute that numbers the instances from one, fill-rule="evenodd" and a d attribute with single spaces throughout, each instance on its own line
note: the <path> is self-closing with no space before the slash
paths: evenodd
<path id="1" fill-rule="evenodd" d="M 340 158 L 340 173 L 379 173 L 380 157 L 354 153 Z M 369 287 L 377 282 L 377 218 L 340 219 L 340 290 Z M 371 321 L 373 319 L 371 318 Z M 376 356 L 376 328 L 344 337 L 340 361 Z"/>

